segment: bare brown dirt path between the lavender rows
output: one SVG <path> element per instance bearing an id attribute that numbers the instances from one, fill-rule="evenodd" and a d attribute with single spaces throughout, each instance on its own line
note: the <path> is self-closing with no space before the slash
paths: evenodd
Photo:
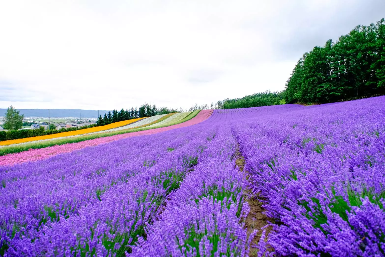
<path id="1" fill-rule="evenodd" d="M 241 153 L 239 152 L 239 149 L 236 151 L 236 160 L 235 165 L 239 167 L 239 170 L 243 172 L 245 160 Z M 247 173 L 247 171 L 245 171 Z M 247 173 L 246 178 L 249 179 L 249 174 Z M 258 196 L 252 196 L 249 190 L 245 191 L 246 194 L 244 195 L 244 199 L 246 202 L 248 202 L 250 206 L 250 212 L 246 217 L 245 220 L 245 226 L 247 228 L 247 235 L 249 236 L 254 230 L 260 230 L 262 227 L 266 226 L 268 224 L 268 221 L 271 223 L 274 223 L 274 220 L 267 217 L 263 214 L 264 208 L 262 207 L 263 203 L 261 203 L 258 200 Z M 268 234 L 270 232 L 271 228 L 266 229 L 266 238 L 268 237 Z M 257 235 L 254 237 L 251 247 L 250 247 L 250 257 L 254 257 L 258 255 L 258 246 L 255 244 L 258 244 L 259 239 L 261 238 L 262 231 L 258 231 Z"/>

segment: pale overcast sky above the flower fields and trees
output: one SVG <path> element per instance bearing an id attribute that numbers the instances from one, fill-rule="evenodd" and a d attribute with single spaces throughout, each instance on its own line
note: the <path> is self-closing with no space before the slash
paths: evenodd
<path id="1" fill-rule="evenodd" d="M 0 108 L 188 108 L 283 90 L 384 0 L 0 0 Z"/>

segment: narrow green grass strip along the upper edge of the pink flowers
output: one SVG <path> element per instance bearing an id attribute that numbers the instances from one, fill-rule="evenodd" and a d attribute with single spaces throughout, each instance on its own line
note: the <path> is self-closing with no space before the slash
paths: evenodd
<path id="1" fill-rule="evenodd" d="M 120 131 L 97 133 L 97 134 L 91 134 L 91 135 L 86 134 L 84 136 L 77 136 L 77 137 L 72 137 L 72 138 L 47 140 L 47 141 L 43 141 L 43 142 L 31 142 L 28 144 L 15 145 L 15 146 L 4 146 L 4 147 L 0 148 L 0 156 L 7 155 L 10 153 L 20 153 L 23 151 L 28 151 L 29 149 L 39 149 L 39 148 L 45 148 L 45 147 L 67 144 L 67 143 L 78 143 L 78 142 L 91 140 L 91 139 L 95 139 L 95 138 L 104 138 L 107 136 L 115 136 L 118 134 L 126 134 L 126 133 L 143 131 L 143 130 L 148 130 L 148 129 L 163 128 L 163 127 L 167 127 L 167 126 L 171 126 L 171 125 L 175 125 L 175 124 L 179 124 L 179 123 L 188 121 L 189 119 L 194 118 L 199 113 L 199 111 L 200 110 L 193 111 L 186 118 L 184 118 L 180 121 L 177 121 L 175 123 L 172 123 L 172 124 L 165 124 L 165 126 L 158 126 L 158 127 L 151 127 L 151 128 L 146 128 L 146 127 L 144 127 L 144 128 L 130 128 L 130 129 L 124 129 L 124 130 L 120 130 Z M 167 115 L 165 115 L 165 116 L 167 116 Z M 159 121 L 159 120 L 160 119 L 158 119 L 157 121 Z"/>

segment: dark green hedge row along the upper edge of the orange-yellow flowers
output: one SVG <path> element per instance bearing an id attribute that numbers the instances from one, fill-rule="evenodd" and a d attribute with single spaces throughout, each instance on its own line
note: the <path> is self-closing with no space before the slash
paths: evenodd
<path id="1" fill-rule="evenodd" d="M 45 130 L 44 127 L 40 127 L 39 129 L 20 129 L 20 130 L 0 131 L 0 141 L 20 139 L 20 138 L 30 138 L 33 136 L 45 136 L 45 135 L 57 134 L 57 133 L 62 133 L 67 131 L 93 128 L 96 126 L 97 126 L 96 124 L 91 124 L 91 125 L 85 125 L 85 126 L 74 127 L 74 128 L 62 128 L 59 130 L 56 130 L 56 129 Z"/>

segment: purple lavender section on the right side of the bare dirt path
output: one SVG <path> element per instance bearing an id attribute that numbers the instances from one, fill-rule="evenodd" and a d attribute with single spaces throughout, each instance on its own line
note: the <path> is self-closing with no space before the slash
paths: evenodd
<path id="1" fill-rule="evenodd" d="M 232 126 L 253 194 L 280 222 L 259 255 L 385 255 L 385 97 Z"/>

